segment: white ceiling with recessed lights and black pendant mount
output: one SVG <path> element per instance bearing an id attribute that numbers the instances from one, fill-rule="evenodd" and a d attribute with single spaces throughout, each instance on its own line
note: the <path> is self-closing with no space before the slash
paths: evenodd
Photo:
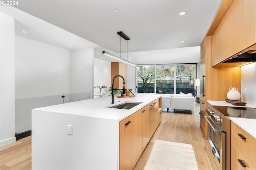
<path id="1" fill-rule="evenodd" d="M 180 63 L 191 63 L 186 62 L 191 59 L 194 61 L 192 63 L 197 63 L 200 61 L 198 46 L 201 45 L 221 2 L 222 0 L 22 0 L 15 8 L 0 6 L 0 12 L 16 18 L 16 35 L 65 49 L 94 47 L 110 53 L 126 53 L 128 49 L 129 58 L 136 56 L 130 59 L 134 63 L 156 63 L 156 60 L 159 63 L 174 63 L 171 60 L 176 58 L 178 62 L 181 60 Z M 119 12 L 113 12 L 115 8 Z M 187 14 L 180 16 L 181 11 L 186 11 Z M 22 30 L 27 33 L 21 33 Z M 126 33 L 130 40 L 120 39 L 118 31 Z M 169 54 L 161 55 L 158 53 L 161 49 Z M 148 51 L 148 54 L 154 53 L 157 57 L 149 55 L 144 58 L 139 53 L 134 53 L 138 51 Z"/>

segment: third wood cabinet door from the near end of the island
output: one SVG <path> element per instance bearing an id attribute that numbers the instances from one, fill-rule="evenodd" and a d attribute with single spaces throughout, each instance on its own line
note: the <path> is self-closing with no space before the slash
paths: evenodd
<path id="1" fill-rule="evenodd" d="M 143 135 L 142 148 L 144 150 L 150 140 L 150 137 L 149 137 L 149 106 L 143 107 L 142 117 L 143 117 L 142 118 L 143 119 L 143 122 L 142 122 L 142 135 Z"/>

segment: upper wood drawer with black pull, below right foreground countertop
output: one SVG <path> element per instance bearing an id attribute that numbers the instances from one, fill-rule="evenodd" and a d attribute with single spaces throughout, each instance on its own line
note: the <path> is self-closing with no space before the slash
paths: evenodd
<path id="1" fill-rule="evenodd" d="M 256 167 L 256 139 L 234 122 L 231 122 L 231 143 L 252 167 Z"/>

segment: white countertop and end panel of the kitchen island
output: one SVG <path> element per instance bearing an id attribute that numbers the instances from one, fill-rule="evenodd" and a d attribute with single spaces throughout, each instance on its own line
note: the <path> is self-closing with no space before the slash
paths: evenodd
<path id="1" fill-rule="evenodd" d="M 118 170 L 120 121 L 154 101 L 160 101 L 161 111 L 158 94 L 115 96 L 115 104 L 107 96 L 32 109 L 32 169 Z M 131 109 L 109 108 L 123 102 L 142 103 Z"/>

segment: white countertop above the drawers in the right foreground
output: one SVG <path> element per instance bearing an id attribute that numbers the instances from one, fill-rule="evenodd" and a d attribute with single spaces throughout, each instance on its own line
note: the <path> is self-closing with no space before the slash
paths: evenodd
<path id="1" fill-rule="evenodd" d="M 230 120 L 256 139 L 256 119 L 231 117 Z"/>

